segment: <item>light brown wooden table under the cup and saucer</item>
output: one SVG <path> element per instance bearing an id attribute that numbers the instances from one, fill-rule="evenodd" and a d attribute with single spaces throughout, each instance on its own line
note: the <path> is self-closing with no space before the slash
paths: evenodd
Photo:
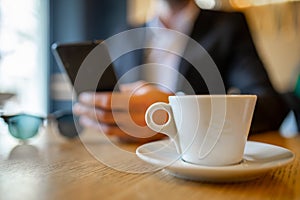
<path id="1" fill-rule="evenodd" d="M 51 130 L 50 130 L 51 129 Z M 175 178 L 164 170 L 126 173 L 98 161 L 82 141 L 66 140 L 44 128 L 28 144 L 19 144 L 0 129 L 0 199 L 300 199 L 300 136 L 283 138 L 276 132 L 249 139 L 279 145 L 296 154 L 293 163 L 259 179 L 241 183 L 203 183 Z M 143 168 L 117 157 L 99 134 L 86 131 L 84 143 L 112 154 L 115 164 Z M 119 145 L 119 144 L 116 144 Z M 134 152 L 137 145 L 120 144 Z M 117 166 L 116 165 L 116 166 Z"/>

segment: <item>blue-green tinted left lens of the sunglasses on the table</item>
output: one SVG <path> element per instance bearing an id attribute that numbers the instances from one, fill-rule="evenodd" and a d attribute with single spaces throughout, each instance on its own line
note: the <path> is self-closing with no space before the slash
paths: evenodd
<path id="1" fill-rule="evenodd" d="M 27 114 L 6 116 L 3 118 L 8 125 L 10 134 L 22 140 L 35 136 L 43 122 L 42 118 Z"/>

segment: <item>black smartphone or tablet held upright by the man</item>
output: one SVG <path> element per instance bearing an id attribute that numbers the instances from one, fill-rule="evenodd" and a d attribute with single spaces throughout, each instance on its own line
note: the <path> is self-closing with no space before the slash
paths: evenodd
<path id="1" fill-rule="evenodd" d="M 102 41 L 99 40 L 76 43 L 54 43 L 51 46 L 54 58 L 59 68 L 67 73 L 77 94 L 84 91 L 95 91 L 95 89 L 96 91 L 117 90 L 117 78 L 113 65 L 99 65 L 101 57 L 107 60 L 109 53 L 106 50 L 102 49 L 99 53 L 102 55 L 97 55 L 97 59 L 99 58 L 99 61 L 97 60 L 96 62 L 92 62 L 88 68 L 85 66 L 86 69 L 81 70 L 81 74 L 78 76 L 78 72 L 80 67 L 82 67 L 85 58 L 101 42 Z M 104 69 L 101 69 L 101 67 Z M 78 77 L 80 80 L 78 80 Z M 96 84 L 95 80 L 97 81 Z"/>

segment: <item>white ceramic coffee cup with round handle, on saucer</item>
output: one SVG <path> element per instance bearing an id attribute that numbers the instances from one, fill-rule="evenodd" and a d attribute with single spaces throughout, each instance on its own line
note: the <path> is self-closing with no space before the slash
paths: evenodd
<path id="1" fill-rule="evenodd" d="M 152 104 L 147 125 L 175 142 L 182 160 L 207 166 L 242 161 L 257 97 L 255 95 L 170 96 L 169 104 Z M 164 110 L 168 120 L 155 122 L 154 113 Z"/>

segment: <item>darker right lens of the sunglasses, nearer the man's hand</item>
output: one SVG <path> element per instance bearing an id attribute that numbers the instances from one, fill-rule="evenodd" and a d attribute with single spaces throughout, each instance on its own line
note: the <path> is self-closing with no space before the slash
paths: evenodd
<path id="1" fill-rule="evenodd" d="M 77 137 L 78 134 L 82 131 L 82 128 L 79 125 L 77 125 L 76 127 L 75 120 L 77 120 L 77 118 L 72 113 L 64 113 L 60 116 L 56 116 L 56 120 L 60 134 L 65 137 Z"/>

